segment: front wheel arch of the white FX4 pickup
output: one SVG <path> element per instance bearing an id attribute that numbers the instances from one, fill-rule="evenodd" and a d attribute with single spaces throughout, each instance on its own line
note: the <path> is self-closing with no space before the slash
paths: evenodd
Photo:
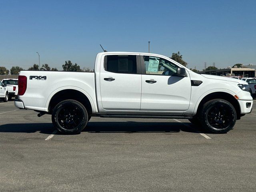
<path id="1" fill-rule="evenodd" d="M 241 110 L 240 110 L 240 105 L 238 103 L 238 100 L 232 94 L 230 94 L 228 92 L 222 92 L 222 91 L 212 92 L 212 93 L 209 93 L 209 94 L 206 94 L 205 96 L 203 96 L 197 102 L 196 107 L 194 109 L 194 113 L 198 114 L 198 112 L 202 109 L 202 106 L 206 102 L 208 102 L 210 100 L 213 100 L 213 99 L 223 99 L 223 100 L 226 100 L 226 101 L 230 102 L 236 110 L 237 119 L 240 119 L 240 117 L 241 117 L 240 111 Z"/>

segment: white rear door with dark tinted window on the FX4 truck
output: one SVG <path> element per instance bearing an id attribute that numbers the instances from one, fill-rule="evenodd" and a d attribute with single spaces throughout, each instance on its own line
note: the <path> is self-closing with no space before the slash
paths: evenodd
<path id="1" fill-rule="evenodd" d="M 140 56 L 104 55 L 100 67 L 102 109 L 108 112 L 139 111 L 141 100 Z"/>

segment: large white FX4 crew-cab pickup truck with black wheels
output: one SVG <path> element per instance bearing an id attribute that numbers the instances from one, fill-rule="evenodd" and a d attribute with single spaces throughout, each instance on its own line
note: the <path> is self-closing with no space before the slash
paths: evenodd
<path id="1" fill-rule="evenodd" d="M 184 118 L 225 133 L 252 110 L 248 83 L 196 74 L 162 55 L 102 52 L 94 72 L 21 71 L 14 104 L 52 114 L 65 134 L 81 132 L 92 116 Z"/>

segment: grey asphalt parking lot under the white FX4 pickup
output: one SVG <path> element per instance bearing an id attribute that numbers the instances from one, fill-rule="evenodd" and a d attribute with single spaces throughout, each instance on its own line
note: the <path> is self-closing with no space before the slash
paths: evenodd
<path id="1" fill-rule="evenodd" d="M 50 115 L 0 102 L 0 191 L 255 191 L 255 123 L 254 105 L 227 134 L 188 120 L 92 118 L 60 135 Z"/>

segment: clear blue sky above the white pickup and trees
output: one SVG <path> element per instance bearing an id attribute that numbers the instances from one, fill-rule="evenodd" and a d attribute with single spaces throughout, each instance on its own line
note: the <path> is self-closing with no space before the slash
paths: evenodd
<path id="1" fill-rule="evenodd" d="M 256 64 L 255 0 L 1 0 L 0 66 L 65 60 L 94 67 L 108 51 L 180 51 L 189 68 Z"/>

